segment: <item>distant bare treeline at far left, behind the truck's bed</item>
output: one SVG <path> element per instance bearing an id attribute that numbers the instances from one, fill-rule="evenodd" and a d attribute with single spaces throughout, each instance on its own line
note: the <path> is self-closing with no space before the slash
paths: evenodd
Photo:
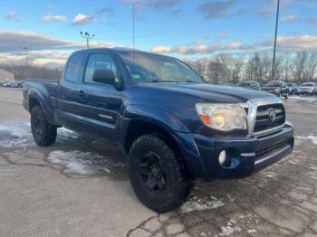
<path id="1" fill-rule="evenodd" d="M 62 70 L 57 68 L 25 66 L 25 65 L 0 65 L 0 69 L 14 73 L 15 80 L 45 79 L 59 80 L 62 75 Z"/>

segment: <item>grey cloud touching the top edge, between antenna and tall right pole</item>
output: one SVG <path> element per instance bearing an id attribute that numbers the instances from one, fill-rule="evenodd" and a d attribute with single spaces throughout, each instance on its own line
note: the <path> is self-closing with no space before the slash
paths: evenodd
<path id="1" fill-rule="evenodd" d="M 198 5 L 197 10 L 203 14 L 207 19 L 221 18 L 229 14 L 233 5 L 235 5 L 235 0 L 214 0 L 208 1 L 205 4 Z"/>

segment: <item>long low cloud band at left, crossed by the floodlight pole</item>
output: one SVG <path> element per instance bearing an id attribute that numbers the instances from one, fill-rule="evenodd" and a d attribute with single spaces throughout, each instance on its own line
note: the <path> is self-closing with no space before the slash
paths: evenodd
<path id="1" fill-rule="evenodd" d="M 41 33 L 0 32 L 0 52 L 18 52 L 21 46 L 27 46 L 32 51 L 75 50 L 84 48 L 85 43 L 61 40 Z M 108 42 L 91 42 L 91 46 L 111 47 L 114 44 Z"/>

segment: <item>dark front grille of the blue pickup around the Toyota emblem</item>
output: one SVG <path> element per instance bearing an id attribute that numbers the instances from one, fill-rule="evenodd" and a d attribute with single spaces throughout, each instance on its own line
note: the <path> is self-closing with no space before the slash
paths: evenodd
<path id="1" fill-rule="evenodd" d="M 274 109 L 275 119 L 270 120 L 270 111 Z M 269 104 L 257 107 L 254 132 L 276 128 L 285 123 L 285 109 L 283 104 Z"/>

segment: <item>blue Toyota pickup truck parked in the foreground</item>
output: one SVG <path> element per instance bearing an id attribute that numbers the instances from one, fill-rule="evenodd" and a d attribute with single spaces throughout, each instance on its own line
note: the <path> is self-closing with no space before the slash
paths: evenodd
<path id="1" fill-rule="evenodd" d="M 155 53 L 73 52 L 60 81 L 27 80 L 23 94 L 39 146 L 53 145 L 61 127 L 115 142 L 139 200 L 159 213 L 185 202 L 195 178 L 245 177 L 293 150 L 281 99 L 207 84 Z"/>

